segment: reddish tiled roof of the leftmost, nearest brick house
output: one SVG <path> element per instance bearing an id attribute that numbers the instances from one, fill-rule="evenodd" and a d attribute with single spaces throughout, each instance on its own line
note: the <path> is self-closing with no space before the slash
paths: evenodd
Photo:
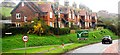
<path id="1" fill-rule="evenodd" d="M 20 2 L 14 9 L 12 12 L 14 12 L 18 6 L 21 4 L 22 2 Z M 24 2 L 24 4 L 26 4 L 33 12 L 49 12 L 51 10 L 51 4 L 50 3 L 42 3 L 39 4 L 38 2 Z M 12 13 L 11 12 L 11 13 Z"/>

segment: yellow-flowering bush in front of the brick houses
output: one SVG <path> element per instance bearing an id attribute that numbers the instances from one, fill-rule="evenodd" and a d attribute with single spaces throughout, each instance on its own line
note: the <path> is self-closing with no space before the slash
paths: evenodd
<path id="1" fill-rule="evenodd" d="M 38 20 L 37 18 L 35 18 L 34 22 L 29 26 L 31 26 L 31 29 L 28 31 L 28 33 L 33 33 L 37 35 L 48 34 L 49 27 L 45 24 L 43 19 Z"/>

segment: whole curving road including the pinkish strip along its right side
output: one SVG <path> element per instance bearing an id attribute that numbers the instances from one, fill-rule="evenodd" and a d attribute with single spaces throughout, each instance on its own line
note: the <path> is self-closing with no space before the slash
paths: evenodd
<path id="1" fill-rule="evenodd" d="M 112 44 L 97 43 L 80 47 L 67 53 L 118 53 L 118 40 L 114 40 Z"/>

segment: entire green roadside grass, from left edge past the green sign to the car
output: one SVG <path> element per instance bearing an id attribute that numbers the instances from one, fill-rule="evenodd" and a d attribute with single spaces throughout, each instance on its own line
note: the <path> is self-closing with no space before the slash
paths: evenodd
<path id="1" fill-rule="evenodd" d="M 95 35 L 96 38 L 94 38 L 92 35 Z M 56 48 L 55 50 L 49 51 L 49 53 L 63 53 L 68 50 L 88 45 L 91 43 L 100 42 L 102 37 L 104 35 L 110 35 L 112 36 L 112 39 L 117 39 L 118 37 L 112 33 L 111 31 L 107 29 L 97 30 L 97 31 L 90 31 L 88 40 L 77 40 L 76 34 L 67 34 L 67 35 L 61 35 L 61 36 L 37 36 L 33 34 L 29 34 L 29 41 L 27 42 L 27 52 L 28 53 L 38 53 L 45 50 L 49 50 L 51 48 Z M 62 43 L 68 44 L 73 43 L 71 45 L 65 46 L 65 49 L 58 48 L 61 46 Z M 50 46 L 47 46 L 50 45 Z M 35 47 L 37 48 L 29 48 L 29 47 Z M 42 46 L 42 47 L 40 47 Z M 3 52 L 12 52 L 12 53 L 24 53 L 24 42 L 22 41 L 22 35 L 14 35 L 14 36 L 6 36 L 2 39 L 2 50 Z M 17 49 L 17 50 L 14 50 Z M 44 53 L 44 52 L 43 52 Z"/>

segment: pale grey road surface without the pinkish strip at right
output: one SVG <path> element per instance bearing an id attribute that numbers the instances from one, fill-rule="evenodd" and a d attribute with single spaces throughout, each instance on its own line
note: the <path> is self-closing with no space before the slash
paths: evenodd
<path id="1" fill-rule="evenodd" d="M 118 40 L 114 40 L 114 43 L 118 43 Z M 67 52 L 67 53 L 104 53 L 104 51 L 112 46 L 113 44 L 102 44 L 102 43 L 97 43 L 97 44 L 92 44 L 84 47 L 80 47 L 78 49 L 75 49 L 73 51 Z M 109 53 L 109 52 L 105 52 Z"/>

